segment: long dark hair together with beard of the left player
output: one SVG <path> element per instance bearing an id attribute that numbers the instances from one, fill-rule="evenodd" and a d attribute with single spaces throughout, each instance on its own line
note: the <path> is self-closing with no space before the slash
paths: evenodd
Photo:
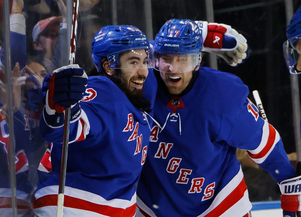
<path id="1" fill-rule="evenodd" d="M 124 92 L 124 94 L 128 97 L 129 101 L 136 107 L 140 108 L 142 111 L 150 112 L 152 109 L 150 108 L 151 104 L 150 101 L 146 100 L 143 97 L 143 92 L 138 90 L 130 91 L 126 88 L 124 81 L 120 78 L 121 69 L 115 69 L 115 73 L 113 75 L 108 75 L 106 70 L 103 68 L 103 63 L 105 61 L 108 61 L 107 57 L 102 57 L 100 59 L 100 72 L 97 71 L 95 66 L 87 71 L 88 76 L 105 76 L 111 81 L 116 84 L 117 87 L 119 87 L 120 90 Z"/>

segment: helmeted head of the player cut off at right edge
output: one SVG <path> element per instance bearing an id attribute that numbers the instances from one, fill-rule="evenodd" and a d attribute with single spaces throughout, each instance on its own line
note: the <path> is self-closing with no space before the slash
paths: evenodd
<path id="1" fill-rule="evenodd" d="M 293 15 L 286 35 L 288 40 L 283 44 L 286 65 L 290 73 L 301 73 L 301 7 Z"/>

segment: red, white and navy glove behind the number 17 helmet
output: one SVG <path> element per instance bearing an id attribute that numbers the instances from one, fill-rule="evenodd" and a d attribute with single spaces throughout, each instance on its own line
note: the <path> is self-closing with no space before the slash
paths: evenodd
<path id="1" fill-rule="evenodd" d="M 203 51 L 214 53 L 231 66 L 246 59 L 246 38 L 225 24 L 195 21 L 203 36 Z"/>

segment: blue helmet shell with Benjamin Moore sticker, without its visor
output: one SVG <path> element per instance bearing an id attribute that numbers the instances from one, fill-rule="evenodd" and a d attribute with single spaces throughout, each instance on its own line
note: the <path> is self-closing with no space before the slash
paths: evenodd
<path id="1" fill-rule="evenodd" d="M 108 58 L 110 68 L 117 68 L 120 53 L 133 49 L 150 49 L 146 35 L 131 25 L 104 26 L 94 36 L 91 46 L 92 60 L 98 72 L 101 71 L 102 57 Z"/>

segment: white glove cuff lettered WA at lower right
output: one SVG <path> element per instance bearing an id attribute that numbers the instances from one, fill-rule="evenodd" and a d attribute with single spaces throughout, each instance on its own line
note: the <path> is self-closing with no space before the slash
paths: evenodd
<path id="1" fill-rule="evenodd" d="M 279 184 L 280 191 L 284 195 L 301 194 L 301 176 L 286 179 Z M 299 197 L 299 196 L 298 196 Z"/>

